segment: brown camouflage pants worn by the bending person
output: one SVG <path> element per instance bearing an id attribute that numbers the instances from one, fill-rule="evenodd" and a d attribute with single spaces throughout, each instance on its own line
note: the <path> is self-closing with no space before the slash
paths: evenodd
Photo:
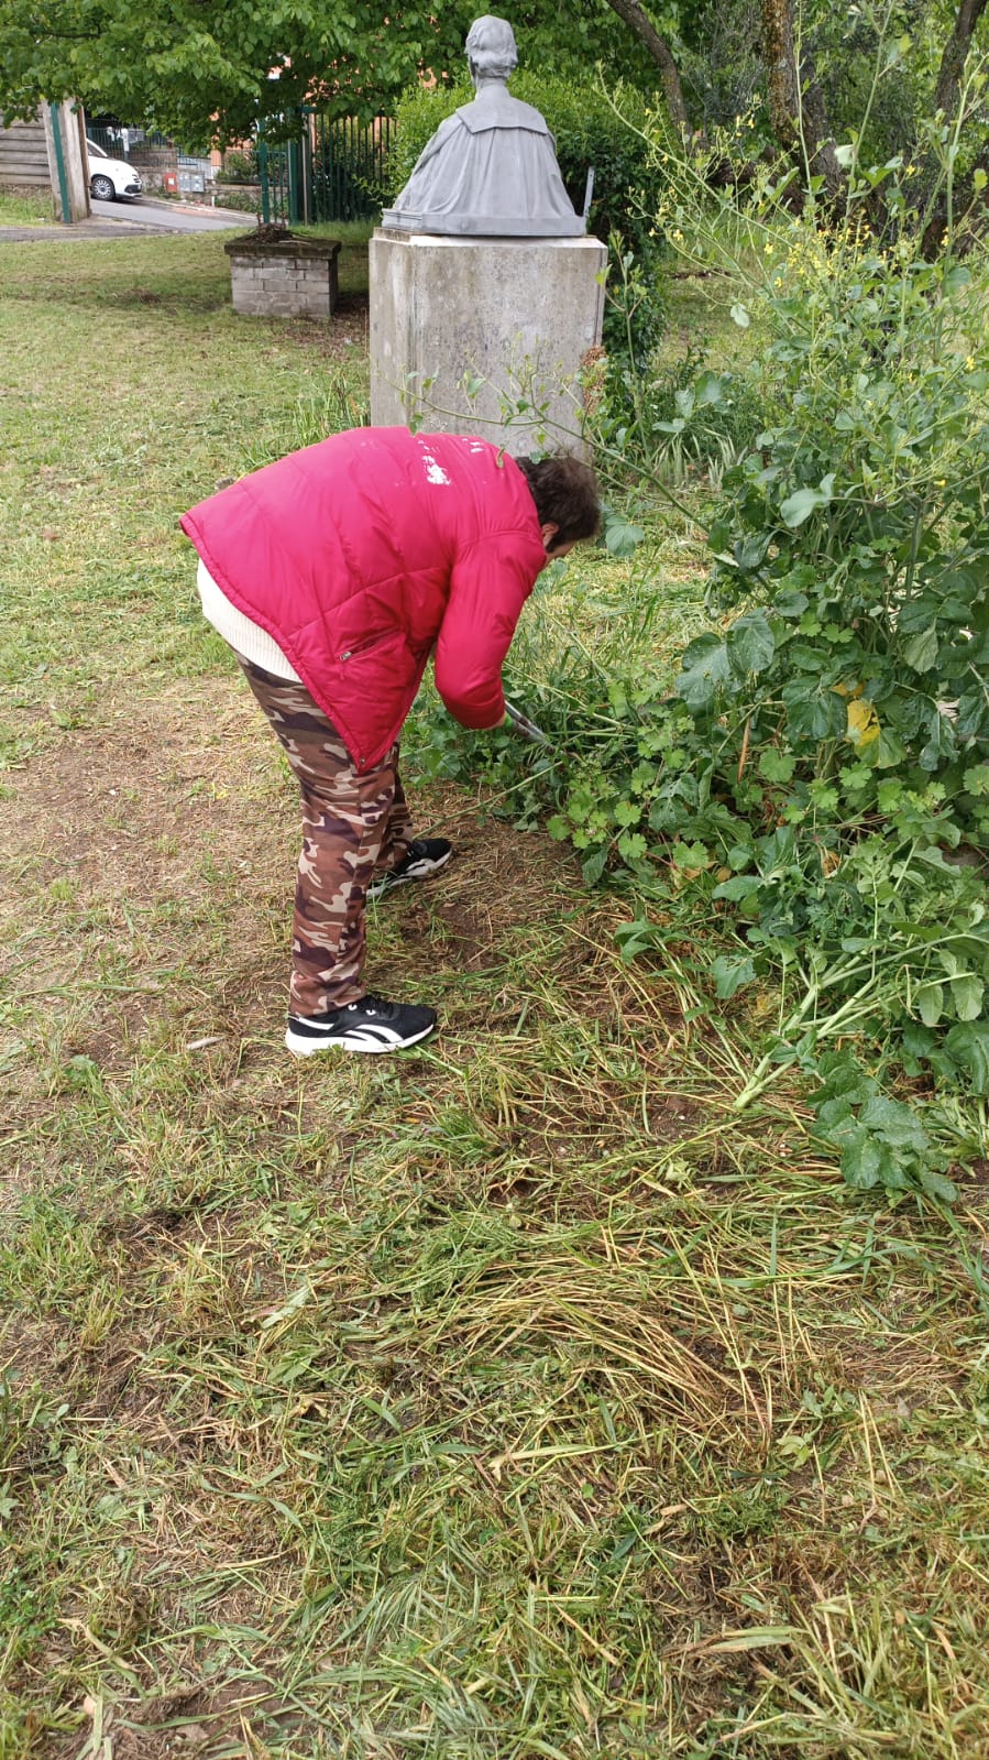
<path id="1" fill-rule="evenodd" d="M 398 744 L 359 776 L 343 739 L 304 685 L 238 655 L 303 790 L 303 854 L 292 919 L 292 1014 L 322 1014 L 364 994 L 364 896 L 412 840 Z"/>

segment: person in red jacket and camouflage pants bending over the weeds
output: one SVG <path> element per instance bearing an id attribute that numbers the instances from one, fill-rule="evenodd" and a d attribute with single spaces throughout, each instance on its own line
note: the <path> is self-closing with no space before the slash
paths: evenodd
<path id="1" fill-rule="evenodd" d="M 537 576 L 600 524 L 575 458 L 510 458 L 470 435 L 355 428 L 183 514 L 199 593 L 303 794 L 285 1044 L 398 1051 L 435 1008 L 368 994 L 364 906 L 436 873 L 414 836 L 398 736 L 435 651 L 463 727 L 505 718 L 502 662 Z"/>

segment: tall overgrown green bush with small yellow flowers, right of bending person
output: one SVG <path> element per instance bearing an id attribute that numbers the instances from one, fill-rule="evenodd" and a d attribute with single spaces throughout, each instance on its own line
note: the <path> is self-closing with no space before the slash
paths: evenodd
<path id="1" fill-rule="evenodd" d="M 887 243 L 852 202 L 825 231 L 780 188 L 741 211 L 702 165 L 685 185 L 670 234 L 741 245 L 732 317 L 757 336 L 670 387 L 681 440 L 760 417 L 706 517 L 723 614 L 672 690 L 648 620 L 607 665 L 563 648 L 526 692 L 549 748 L 494 741 L 496 785 L 514 813 L 553 808 L 591 884 L 639 892 L 628 957 L 670 957 L 649 901 L 692 889 L 737 936 L 714 994 L 783 982 L 739 1105 L 799 1065 L 852 1184 L 950 1197 L 934 1139 L 827 1060 L 871 1040 L 989 1096 L 989 276 L 950 238 L 924 260 L 894 183 Z"/>

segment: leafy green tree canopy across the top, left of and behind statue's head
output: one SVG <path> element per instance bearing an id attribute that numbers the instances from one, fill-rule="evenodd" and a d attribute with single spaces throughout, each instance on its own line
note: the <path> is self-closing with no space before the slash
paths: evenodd
<path id="1" fill-rule="evenodd" d="M 375 0 L 0 0 L 0 116 L 81 97 L 187 144 L 246 139 L 259 118 L 317 102 L 370 118 L 417 76 L 465 67 L 475 0 L 443 7 Z M 512 12 L 523 63 L 584 74 L 607 62 L 649 83 L 649 60 L 605 0 L 574 14 Z"/>

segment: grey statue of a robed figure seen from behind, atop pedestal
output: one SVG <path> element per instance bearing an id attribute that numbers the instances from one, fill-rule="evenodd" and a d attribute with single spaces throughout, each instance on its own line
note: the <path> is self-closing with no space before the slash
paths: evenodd
<path id="1" fill-rule="evenodd" d="M 509 21 L 475 19 L 466 56 L 477 97 L 440 123 L 382 225 L 472 238 L 581 238 L 584 218 L 563 188 L 546 120 L 509 92 L 519 60 Z"/>

